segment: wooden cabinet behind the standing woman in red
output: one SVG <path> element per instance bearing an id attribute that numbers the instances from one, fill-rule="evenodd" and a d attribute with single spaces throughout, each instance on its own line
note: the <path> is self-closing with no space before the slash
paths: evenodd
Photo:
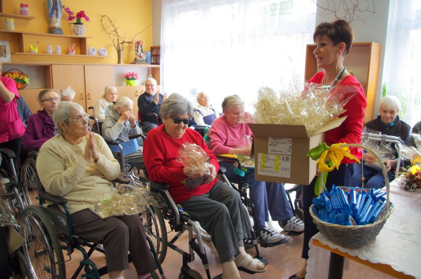
<path id="1" fill-rule="evenodd" d="M 317 68 L 313 54 L 316 45 L 308 44 L 305 55 L 304 79 L 307 81 L 322 69 Z M 354 42 L 345 56 L 343 65 L 363 85 L 367 97 L 364 123 L 373 120 L 376 103 L 377 79 L 379 74 L 380 44 L 377 42 Z"/>

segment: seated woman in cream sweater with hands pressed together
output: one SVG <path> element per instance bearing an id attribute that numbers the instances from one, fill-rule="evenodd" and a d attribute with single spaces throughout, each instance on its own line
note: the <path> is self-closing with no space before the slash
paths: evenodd
<path id="1" fill-rule="evenodd" d="M 150 278 L 157 265 L 138 215 L 101 219 L 89 206 L 114 190 L 110 180 L 120 174 L 104 139 L 90 133 L 82 106 L 61 102 L 53 116 L 57 135 L 46 141 L 37 159 L 37 169 L 46 192 L 67 199 L 73 233 L 103 243 L 110 278 L 123 278 L 130 251 L 138 278 Z"/>

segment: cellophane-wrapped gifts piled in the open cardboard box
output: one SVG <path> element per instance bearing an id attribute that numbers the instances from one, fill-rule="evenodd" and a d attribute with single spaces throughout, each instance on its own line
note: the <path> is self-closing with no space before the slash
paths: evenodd
<path id="1" fill-rule="evenodd" d="M 285 90 L 260 87 L 254 104 L 254 119 L 259 124 L 304 125 L 308 136 L 338 117 L 360 86 L 304 84 L 304 90 L 290 86 Z"/>

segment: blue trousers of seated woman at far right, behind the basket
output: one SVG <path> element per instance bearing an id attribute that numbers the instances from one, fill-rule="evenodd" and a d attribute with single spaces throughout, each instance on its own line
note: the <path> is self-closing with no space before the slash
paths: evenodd
<path id="1" fill-rule="evenodd" d="M 360 163 L 356 163 L 354 174 L 351 176 L 351 187 L 361 187 L 362 181 L 361 177 L 363 175 L 363 168 L 364 168 L 364 178 L 366 183 L 366 188 L 383 188 L 385 185 L 384 176 L 381 170 L 377 170 L 371 167 L 366 166 L 363 164 L 361 167 Z M 389 181 L 394 179 L 393 171 L 389 171 L 387 173 L 387 178 Z"/>

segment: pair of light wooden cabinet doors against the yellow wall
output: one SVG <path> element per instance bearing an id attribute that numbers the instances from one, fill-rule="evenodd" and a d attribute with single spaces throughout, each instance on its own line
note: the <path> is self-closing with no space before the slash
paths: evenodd
<path id="1" fill-rule="evenodd" d="M 75 103 L 85 112 L 101 99 L 104 88 L 114 83 L 113 66 L 109 65 L 51 65 L 53 88 L 60 90 L 68 85 L 76 91 Z"/>

